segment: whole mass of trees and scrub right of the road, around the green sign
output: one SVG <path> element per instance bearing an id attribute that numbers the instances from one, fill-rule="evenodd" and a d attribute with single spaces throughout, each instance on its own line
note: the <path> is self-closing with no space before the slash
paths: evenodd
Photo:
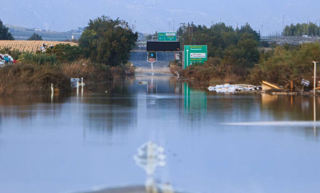
<path id="1" fill-rule="evenodd" d="M 189 29 L 193 31 L 190 35 Z M 319 42 L 299 46 L 270 45 L 260 42 L 260 34 L 249 24 L 233 29 L 224 23 L 210 28 L 191 23 L 177 32 L 185 45 L 208 45 L 208 61 L 188 66 L 181 74 L 209 84 L 259 84 L 264 80 L 284 87 L 293 81 L 300 87 L 302 78 L 313 84 L 312 61 L 320 61 Z M 177 67 L 171 69 L 179 71 Z M 319 68 L 317 73 L 320 73 Z"/>

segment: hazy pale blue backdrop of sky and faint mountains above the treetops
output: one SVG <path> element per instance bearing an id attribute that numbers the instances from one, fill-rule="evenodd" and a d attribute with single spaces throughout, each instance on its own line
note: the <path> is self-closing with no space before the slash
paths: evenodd
<path id="1" fill-rule="evenodd" d="M 0 19 L 5 24 L 30 28 L 68 31 L 84 26 L 89 19 L 108 15 L 124 19 L 134 24 L 139 32 L 175 30 L 181 22 L 194 22 L 196 25 L 211 25 L 221 21 L 236 27 L 245 22 L 263 35 L 270 31 L 282 30 L 282 15 L 285 24 L 307 22 L 320 19 L 320 1 L 257 1 L 257 0 L 10 0 L 1 6 Z M 130 21 L 131 20 L 131 21 Z"/>

